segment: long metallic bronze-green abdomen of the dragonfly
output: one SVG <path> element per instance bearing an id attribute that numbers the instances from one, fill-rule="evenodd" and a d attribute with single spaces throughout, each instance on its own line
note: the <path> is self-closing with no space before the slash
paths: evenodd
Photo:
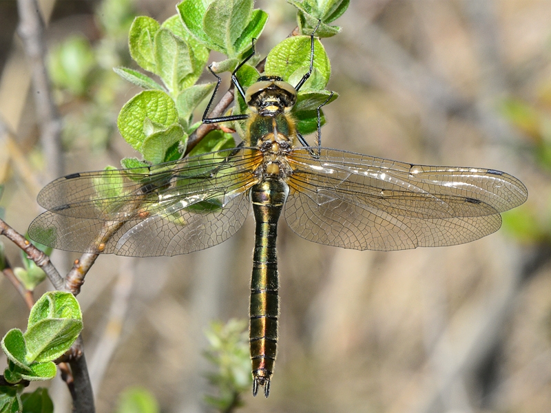
<path id="1" fill-rule="evenodd" d="M 264 387 L 267 397 L 278 343 L 279 279 L 275 241 L 278 220 L 289 195 L 282 180 L 268 179 L 251 189 L 256 220 L 253 275 L 251 278 L 251 326 L 249 341 L 253 362 L 253 394 Z"/>

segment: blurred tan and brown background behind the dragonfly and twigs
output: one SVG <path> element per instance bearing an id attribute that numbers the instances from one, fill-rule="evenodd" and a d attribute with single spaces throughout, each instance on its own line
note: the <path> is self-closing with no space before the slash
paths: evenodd
<path id="1" fill-rule="evenodd" d="M 136 156 L 116 130 L 138 92 L 112 72 L 131 65 L 136 15 L 164 21 L 174 0 L 43 0 L 48 67 L 63 125 L 63 173 Z M 551 2 L 352 1 L 324 39 L 340 94 L 324 108 L 324 146 L 429 165 L 507 171 L 528 202 L 476 242 L 391 253 L 348 251 L 279 229 L 280 341 L 269 399 L 242 412 L 551 411 Z M 256 1 L 270 19 L 265 56 L 295 28 L 283 0 Z M 24 233 L 60 160 L 45 156 L 17 3 L 0 1 L 0 207 Z M 213 55 L 214 59 L 220 56 Z M 133 66 L 135 67 L 135 66 Z M 207 79 L 207 77 L 205 77 Z M 211 81 L 211 78 L 208 78 Z M 12 265 L 19 252 L 2 240 Z M 98 412 L 142 385 L 162 412 L 211 412 L 203 357 L 212 320 L 247 319 L 253 219 L 191 255 L 101 256 L 79 295 Z M 54 252 L 62 273 L 78 255 Z M 46 283 L 45 283 L 46 284 Z M 41 286 L 39 297 L 49 288 Z M 28 309 L 0 278 L 0 334 Z M 5 367 L 1 359 L 0 368 Z M 247 371 L 247 366 L 245 366 Z M 56 412 L 70 411 L 61 379 Z"/>

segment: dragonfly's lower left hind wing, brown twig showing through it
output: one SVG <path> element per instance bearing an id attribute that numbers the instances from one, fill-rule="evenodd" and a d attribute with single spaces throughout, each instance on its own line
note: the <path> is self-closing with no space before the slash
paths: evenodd
<path id="1" fill-rule="evenodd" d="M 206 201 L 205 201 L 206 202 Z M 81 253 L 112 253 L 156 257 L 191 253 L 220 244 L 245 222 L 249 196 L 242 191 L 223 207 L 194 204 L 174 206 L 167 213 L 105 221 L 47 211 L 31 224 L 32 239 L 54 248 Z"/>

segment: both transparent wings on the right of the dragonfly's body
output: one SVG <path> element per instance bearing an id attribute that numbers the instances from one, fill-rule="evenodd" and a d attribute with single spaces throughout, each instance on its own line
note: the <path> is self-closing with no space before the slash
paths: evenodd
<path id="1" fill-rule="evenodd" d="M 285 218 L 313 242 L 392 251 L 477 240 L 522 204 L 526 187 L 492 169 L 410 165 L 359 153 L 307 149 L 288 157 Z"/>

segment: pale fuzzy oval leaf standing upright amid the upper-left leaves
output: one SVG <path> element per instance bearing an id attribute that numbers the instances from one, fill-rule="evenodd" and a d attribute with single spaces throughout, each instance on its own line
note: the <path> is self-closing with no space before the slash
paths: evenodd
<path id="1" fill-rule="evenodd" d="M 177 95 L 184 78 L 193 72 L 187 44 L 168 29 L 155 35 L 155 63 L 157 74 L 169 91 Z"/>

